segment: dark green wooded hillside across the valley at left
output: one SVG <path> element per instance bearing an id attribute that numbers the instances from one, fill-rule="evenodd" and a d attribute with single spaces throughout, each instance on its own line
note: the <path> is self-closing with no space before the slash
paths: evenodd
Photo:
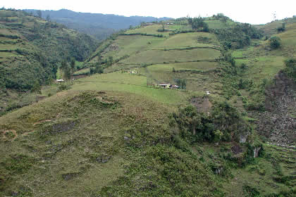
<path id="1" fill-rule="evenodd" d="M 21 101 L 25 91 L 50 84 L 61 61 L 85 61 L 98 46 L 87 34 L 23 11 L 0 10 L 0 26 L 0 113 L 32 102 Z"/>

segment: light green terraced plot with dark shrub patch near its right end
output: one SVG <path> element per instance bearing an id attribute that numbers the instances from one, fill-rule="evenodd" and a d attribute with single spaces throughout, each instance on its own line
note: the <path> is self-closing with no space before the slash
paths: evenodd
<path id="1" fill-rule="evenodd" d="M 184 49 L 189 47 L 218 45 L 214 34 L 206 32 L 190 32 L 184 34 L 175 34 L 164 42 L 152 46 L 152 49 Z"/>

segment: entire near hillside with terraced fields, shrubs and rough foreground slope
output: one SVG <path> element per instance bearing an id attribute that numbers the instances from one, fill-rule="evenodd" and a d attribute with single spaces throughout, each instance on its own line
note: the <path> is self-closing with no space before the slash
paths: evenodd
<path id="1" fill-rule="evenodd" d="M 84 78 L 35 83 L 48 98 L 0 117 L 0 196 L 295 196 L 296 23 L 198 20 L 113 34 L 58 69 Z"/>

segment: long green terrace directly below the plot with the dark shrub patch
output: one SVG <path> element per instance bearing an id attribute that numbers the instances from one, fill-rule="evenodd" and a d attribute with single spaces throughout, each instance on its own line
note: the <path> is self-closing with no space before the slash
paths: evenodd
<path id="1" fill-rule="evenodd" d="M 220 56 L 220 51 L 216 49 L 192 49 L 192 50 L 171 50 L 171 51 L 142 51 L 137 55 L 130 56 L 121 63 L 173 63 L 188 62 L 197 60 L 212 60 Z"/>

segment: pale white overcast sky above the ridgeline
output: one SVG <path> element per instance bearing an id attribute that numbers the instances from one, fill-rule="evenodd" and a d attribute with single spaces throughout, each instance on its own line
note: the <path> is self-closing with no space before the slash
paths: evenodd
<path id="1" fill-rule="evenodd" d="M 295 0 L 13 0 L 2 1 L 1 7 L 16 9 L 59 10 L 65 8 L 84 13 L 104 13 L 116 15 L 142 15 L 154 17 L 180 18 L 190 15 L 211 16 L 223 13 L 240 23 L 253 25 L 269 23 L 274 19 L 290 18 L 296 15 Z"/>

